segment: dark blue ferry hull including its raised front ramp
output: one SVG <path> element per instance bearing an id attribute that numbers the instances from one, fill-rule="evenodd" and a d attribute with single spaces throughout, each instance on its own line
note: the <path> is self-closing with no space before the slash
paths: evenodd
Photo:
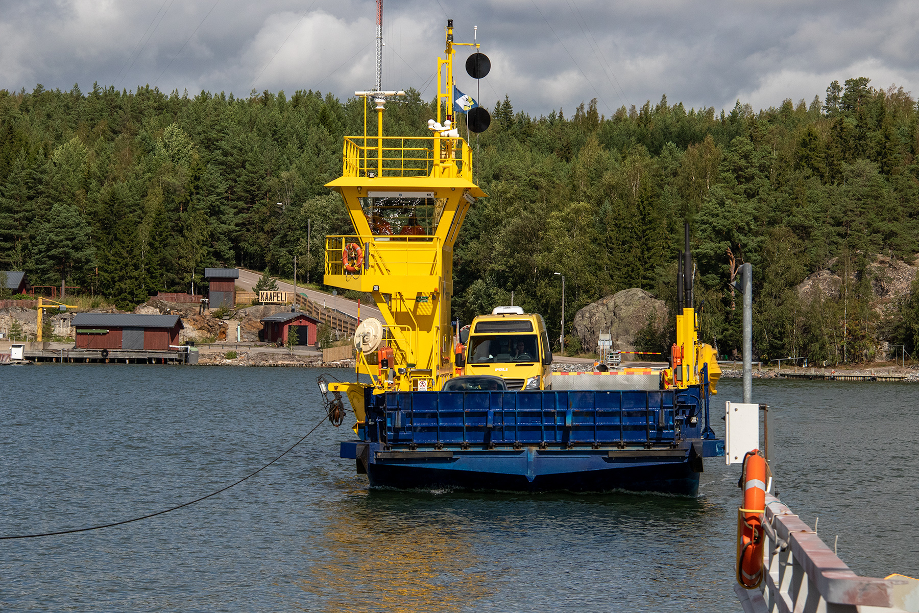
<path id="1" fill-rule="evenodd" d="M 366 411 L 340 455 L 371 487 L 695 496 L 703 458 L 724 453 L 700 386 L 388 392 Z"/>

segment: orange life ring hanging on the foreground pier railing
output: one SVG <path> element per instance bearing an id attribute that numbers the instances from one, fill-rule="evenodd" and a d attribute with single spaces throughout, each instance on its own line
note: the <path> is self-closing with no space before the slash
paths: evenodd
<path id="1" fill-rule="evenodd" d="M 743 506 L 737 513 L 737 583 L 755 589 L 763 582 L 763 517 L 766 513 L 766 460 L 759 450 L 743 456 Z"/>

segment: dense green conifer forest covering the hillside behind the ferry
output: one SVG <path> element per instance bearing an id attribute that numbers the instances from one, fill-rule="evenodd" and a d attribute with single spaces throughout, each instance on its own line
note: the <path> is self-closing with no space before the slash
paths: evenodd
<path id="1" fill-rule="evenodd" d="M 390 134 L 425 134 L 435 115 L 408 94 L 389 104 Z M 323 184 L 341 171 L 342 136 L 363 131 L 362 105 L 312 91 L 0 90 L 0 269 L 122 308 L 187 291 L 204 267 L 290 278 L 298 255 L 301 280 L 321 280 L 322 237 L 352 232 Z M 754 266 L 759 358 L 859 362 L 883 341 L 915 352 L 919 286 L 885 309 L 874 289 L 879 256 L 912 264 L 919 252 L 919 108 L 902 88 L 849 79 L 823 101 L 759 112 L 687 110 L 666 96 L 609 118 L 596 101 L 533 118 L 505 96 L 491 110 L 475 171 L 489 197 L 455 252 L 459 319 L 514 291 L 558 336 L 557 271 L 569 325 L 619 289 L 673 309 L 688 219 L 701 334 L 720 353 L 740 344 L 728 282 L 743 262 Z M 796 289 L 819 270 L 841 278 L 838 296 Z M 655 323 L 643 342 L 664 346 L 671 328 Z"/>

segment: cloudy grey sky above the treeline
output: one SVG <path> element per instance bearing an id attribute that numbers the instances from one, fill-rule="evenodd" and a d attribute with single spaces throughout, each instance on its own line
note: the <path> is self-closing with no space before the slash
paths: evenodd
<path id="1" fill-rule="evenodd" d="M 492 74 L 478 84 L 482 103 L 507 93 L 516 109 L 537 115 L 568 113 L 593 97 L 608 115 L 662 94 L 695 108 L 732 108 L 737 98 L 765 108 L 786 97 L 823 96 L 834 79 L 868 76 L 873 85 L 907 90 L 919 83 L 913 2 L 384 4 L 384 86 L 433 97 L 449 13 L 457 40 L 471 41 L 479 26 L 482 51 L 492 59 Z M 374 37 L 369 0 L 13 0 L 0 15 L 0 87 L 70 89 L 76 82 L 86 91 L 98 82 L 190 94 L 244 96 L 254 87 L 346 97 L 373 84 Z M 459 73 L 460 89 L 474 95 L 477 84 Z"/>

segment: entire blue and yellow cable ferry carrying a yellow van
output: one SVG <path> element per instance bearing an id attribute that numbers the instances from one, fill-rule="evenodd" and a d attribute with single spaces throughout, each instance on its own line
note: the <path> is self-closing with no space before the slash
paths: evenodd
<path id="1" fill-rule="evenodd" d="M 354 233 L 326 237 L 323 282 L 372 293 L 385 320 L 355 335 L 356 371 L 369 383 L 319 380 L 330 420 L 342 423 L 345 398 L 356 418 L 341 457 L 371 487 L 697 495 L 703 459 L 723 456 L 724 441 L 709 426 L 720 369 L 698 342 L 688 224 L 665 368 L 553 372 L 542 317 L 515 307 L 476 317 L 460 338 L 450 319 L 453 245 L 485 193 L 457 118 L 466 114 L 473 132 L 490 118 L 457 100 L 454 56 L 473 48 L 465 67 L 474 79 L 490 62 L 478 44 L 453 40 L 448 19 L 430 136 L 384 135 L 386 102 L 404 93 L 381 88 L 380 17 L 376 88 L 356 92 L 365 131 L 345 137 L 342 176 L 326 186 L 342 195 Z"/>

